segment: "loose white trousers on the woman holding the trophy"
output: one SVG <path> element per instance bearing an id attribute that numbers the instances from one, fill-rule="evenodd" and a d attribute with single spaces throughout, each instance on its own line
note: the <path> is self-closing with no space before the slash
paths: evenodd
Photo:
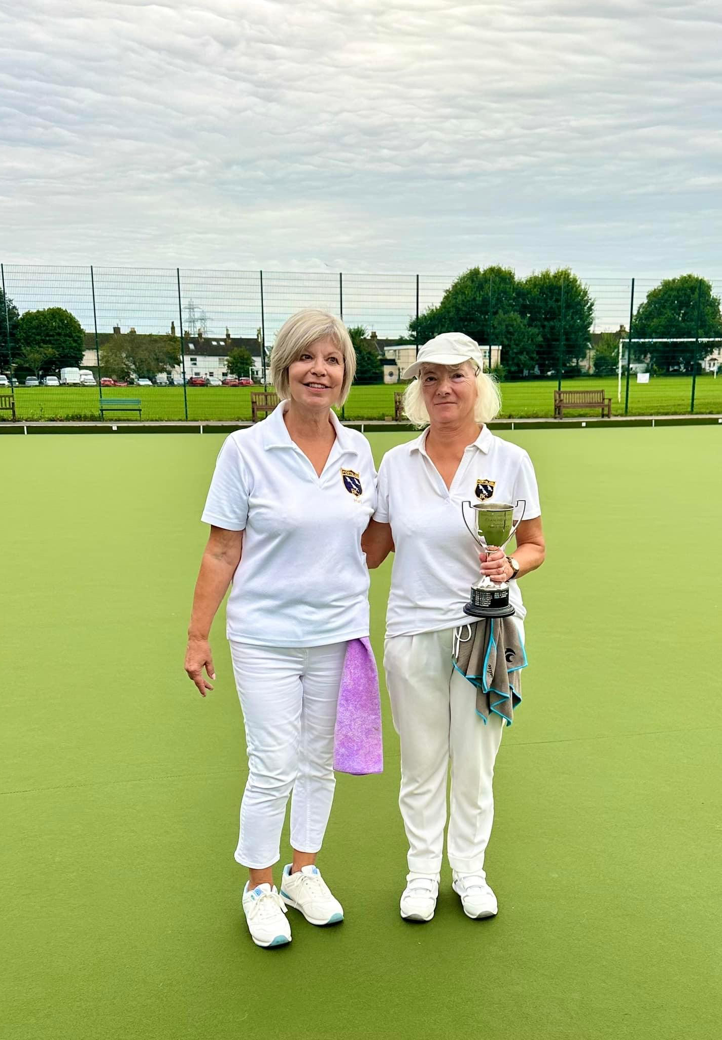
<path id="1" fill-rule="evenodd" d="M 524 626 L 518 620 L 516 624 Z M 484 853 L 493 823 L 493 763 L 505 725 L 476 712 L 476 687 L 451 661 L 454 629 L 394 635 L 383 667 L 394 727 L 401 742 L 399 808 L 408 838 L 408 868 L 435 875 L 447 850 L 452 869 L 484 877 Z"/>

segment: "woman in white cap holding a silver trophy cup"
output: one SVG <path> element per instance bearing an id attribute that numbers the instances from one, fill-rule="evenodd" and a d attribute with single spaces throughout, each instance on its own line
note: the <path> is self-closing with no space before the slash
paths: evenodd
<path id="1" fill-rule="evenodd" d="M 453 887 L 470 917 L 497 913 L 484 853 L 493 818 L 493 764 L 502 716 L 475 710 L 475 687 L 452 665 L 452 639 L 470 588 L 481 571 L 510 582 L 509 600 L 524 641 L 517 579 L 541 565 L 544 539 L 529 456 L 486 425 L 499 413 L 496 383 L 483 372 L 477 343 L 445 333 L 419 350 L 404 378 L 404 410 L 418 439 L 392 448 L 378 473 L 378 506 L 363 547 L 369 567 L 395 551 L 386 614 L 384 669 L 401 743 L 399 806 L 408 838 L 401 916 L 433 917 L 438 894 L 451 760 L 448 856 Z M 514 556 L 481 553 L 466 530 L 461 503 L 526 500 Z"/>

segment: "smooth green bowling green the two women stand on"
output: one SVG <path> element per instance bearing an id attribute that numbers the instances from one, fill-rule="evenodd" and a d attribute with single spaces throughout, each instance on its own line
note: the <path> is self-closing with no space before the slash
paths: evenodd
<path id="1" fill-rule="evenodd" d="M 3 1040 L 717 1035 L 720 436 L 511 436 L 549 556 L 525 579 L 530 668 L 498 759 L 500 914 L 465 918 L 445 869 L 434 920 L 399 918 L 384 695 L 385 772 L 339 777 L 320 858 L 346 920 L 294 917 L 274 952 L 240 911 L 245 757 L 220 617 L 215 692 L 182 671 L 221 438 L 3 442 Z M 399 439 L 374 436 L 377 457 Z M 701 545 L 672 538 L 679 509 Z M 389 577 L 373 576 L 379 656 Z"/>

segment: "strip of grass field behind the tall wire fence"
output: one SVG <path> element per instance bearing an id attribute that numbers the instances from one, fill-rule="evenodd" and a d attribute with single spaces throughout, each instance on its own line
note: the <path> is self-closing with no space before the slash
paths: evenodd
<path id="1" fill-rule="evenodd" d="M 556 381 L 505 383 L 502 386 L 502 416 L 524 418 L 551 416 L 554 413 Z M 617 402 L 616 379 L 580 379 L 563 384 L 566 389 L 596 390 L 604 388 L 612 398 L 612 414 L 624 412 L 622 399 Z M 394 386 L 354 386 L 346 402 L 347 419 L 383 419 L 394 414 Z M 689 375 L 653 376 L 648 385 L 630 383 L 631 415 L 677 415 L 689 412 L 692 378 Z M 248 387 L 187 387 L 188 418 L 193 420 L 250 419 Z M 141 401 L 142 418 L 179 420 L 185 418 L 183 387 L 108 387 L 105 397 L 135 397 Z M 93 387 L 19 387 L 16 389 L 19 419 L 95 418 L 99 417 L 99 391 Z M 695 412 L 722 412 L 722 376 L 703 375 L 697 379 Z M 574 411 L 574 415 L 599 414 Z M 137 419 L 135 414 L 116 413 L 111 420 Z"/>

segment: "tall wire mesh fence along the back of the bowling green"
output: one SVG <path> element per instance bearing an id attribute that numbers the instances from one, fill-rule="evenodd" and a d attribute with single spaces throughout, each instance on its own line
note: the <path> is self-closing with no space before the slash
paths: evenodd
<path id="1" fill-rule="evenodd" d="M 455 278 L 442 275 L 27 264 L 0 272 L 0 420 L 248 421 L 252 395 L 272 390 L 279 328 L 310 306 L 342 317 L 379 360 L 376 382 L 351 388 L 346 419 L 401 418 L 396 381 L 429 330 L 455 327 L 484 346 L 503 417 L 722 412 L 722 331 L 710 326 L 704 295 L 711 285 L 719 301 L 722 280 L 698 280 L 677 318 L 647 335 L 636 326 L 660 280 L 544 272 L 512 307 L 504 272 L 492 274 L 452 307 Z M 57 336 L 44 342 L 25 328 L 27 312 L 53 308 L 76 319 L 72 363 Z"/>

